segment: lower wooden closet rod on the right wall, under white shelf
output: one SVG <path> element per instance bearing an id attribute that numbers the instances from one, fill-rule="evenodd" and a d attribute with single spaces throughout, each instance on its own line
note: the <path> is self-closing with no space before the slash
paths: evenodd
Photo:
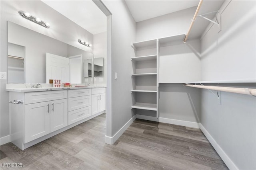
<path id="1" fill-rule="evenodd" d="M 256 96 L 256 89 L 253 88 L 233 88 L 233 87 L 220 87 L 220 86 L 201 86 L 201 85 L 193 85 L 193 84 L 185 84 L 184 86 L 195 87 L 195 88 L 204 88 L 209 90 L 217 90 L 222 92 L 231 92 L 238 94 L 248 94 L 252 96 Z"/>

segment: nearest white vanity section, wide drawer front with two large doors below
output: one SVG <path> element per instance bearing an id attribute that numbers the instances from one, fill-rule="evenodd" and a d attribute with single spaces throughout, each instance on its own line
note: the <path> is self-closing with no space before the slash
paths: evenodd
<path id="1" fill-rule="evenodd" d="M 67 90 L 28 92 L 24 96 L 24 143 L 68 125 Z"/>

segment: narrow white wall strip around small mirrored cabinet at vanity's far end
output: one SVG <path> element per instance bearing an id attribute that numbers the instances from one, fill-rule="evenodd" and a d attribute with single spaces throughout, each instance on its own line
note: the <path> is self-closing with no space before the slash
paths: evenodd
<path id="1" fill-rule="evenodd" d="M 98 33 L 93 35 L 93 55 L 94 58 L 104 58 L 104 70 L 103 77 L 94 77 L 94 83 L 104 83 L 107 82 L 107 32 Z M 100 81 L 100 78 L 103 81 Z"/>

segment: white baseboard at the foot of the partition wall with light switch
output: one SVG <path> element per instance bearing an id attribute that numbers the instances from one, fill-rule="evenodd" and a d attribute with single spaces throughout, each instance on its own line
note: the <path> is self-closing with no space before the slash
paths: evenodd
<path id="1" fill-rule="evenodd" d="M 136 116 L 134 115 L 121 129 L 119 129 L 118 132 L 112 137 L 109 137 L 105 135 L 105 143 L 109 145 L 113 145 L 117 139 L 126 131 L 126 129 L 132 124 L 132 122 L 136 119 Z"/>

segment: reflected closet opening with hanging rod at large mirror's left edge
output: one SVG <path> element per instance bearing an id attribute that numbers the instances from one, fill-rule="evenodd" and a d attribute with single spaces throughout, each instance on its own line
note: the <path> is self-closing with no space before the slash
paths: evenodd
<path id="1" fill-rule="evenodd" d="M 8 83 L 24 83 L 25 47 L 8 43 Z"/>

